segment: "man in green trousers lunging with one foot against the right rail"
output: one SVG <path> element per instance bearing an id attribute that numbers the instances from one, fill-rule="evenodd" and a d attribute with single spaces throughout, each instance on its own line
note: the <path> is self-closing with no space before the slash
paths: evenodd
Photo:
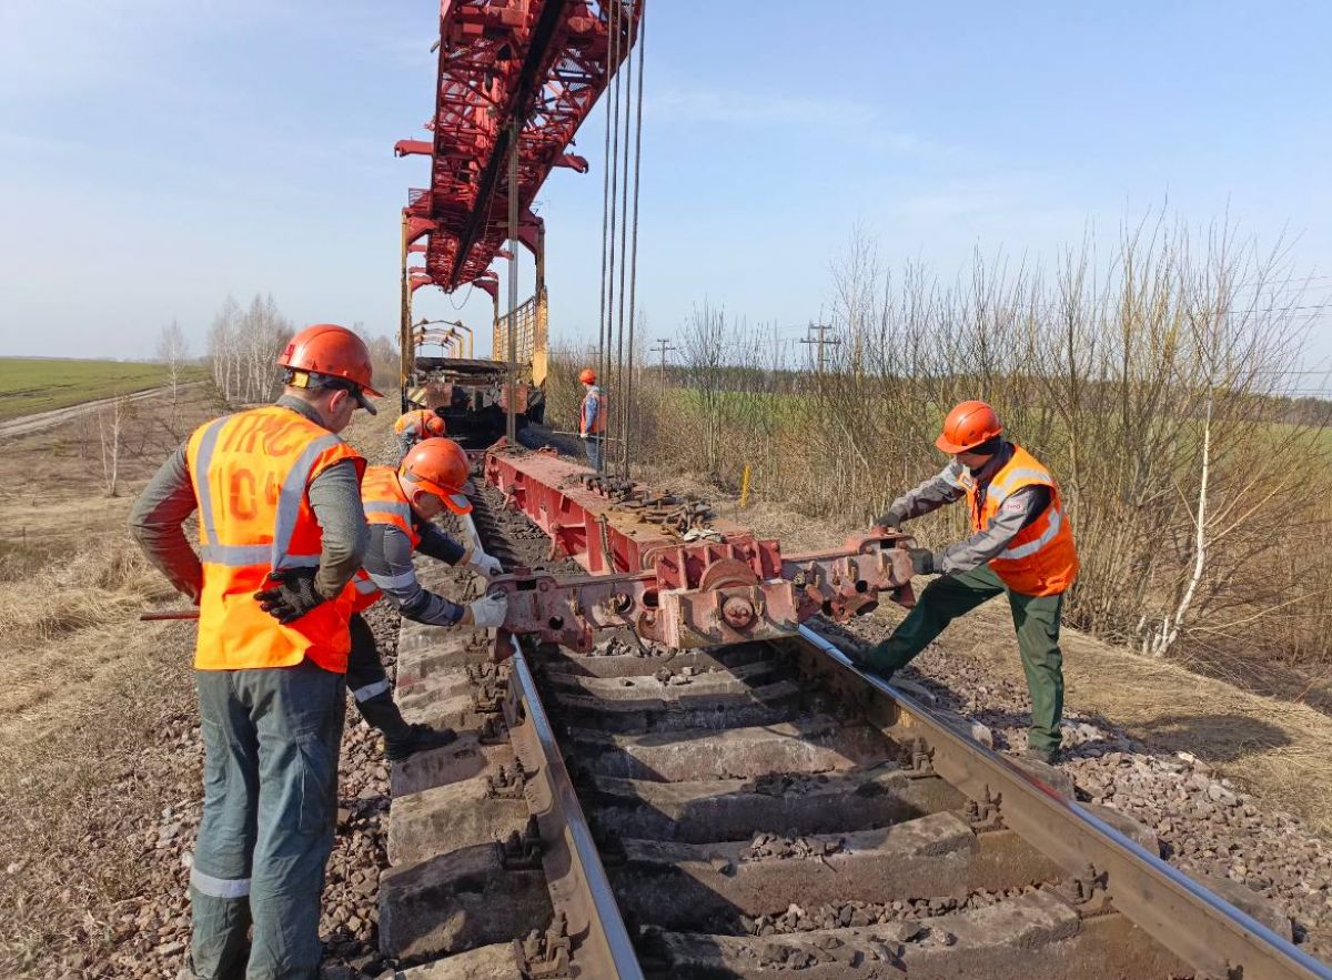
<path id="1" fill-rule="evenodd" d="M 1064 704 L 1059 616 L 1064 591 L 1078 577 L 1078 549 L 1054 477 L 1031 453 L 1003 438 L 986 402 L 958 405 L 935 445 L 952 455 L 943 471 L 899 497 L 876 523 L 898 530 L 904 521 L 967 501 L 971 537 L 939 551 L 912 549 L 919 575 L 939 575 L 864 666 L 891 676 L 959 615 L 1007 595 L 1018 631 L 1031 730 L 1027 756 L 1059 760 Z"/>

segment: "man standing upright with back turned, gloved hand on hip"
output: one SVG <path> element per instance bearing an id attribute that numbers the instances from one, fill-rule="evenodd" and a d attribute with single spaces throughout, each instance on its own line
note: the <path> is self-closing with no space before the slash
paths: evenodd
<path id="1" fill-rule="evenodd" d="M 365 461 L 337 433 L 370 352 L 317 324 L 277 358 L 276 405 L 200 426 L 149 481 L 131 533 L 198 605 L 204 815 L 185 976 L 314 977 L 346 712 Z M 198 511 L 198 551 L 184 522 Z"/>

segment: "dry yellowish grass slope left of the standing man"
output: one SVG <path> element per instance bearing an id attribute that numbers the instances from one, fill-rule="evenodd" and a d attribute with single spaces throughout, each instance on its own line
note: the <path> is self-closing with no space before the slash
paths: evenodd
<path id="1" fill-rule="evenodd" d="M 362 449 L 382 441 L 385 409 L 349 438 Z M 121 916 L 135 896 L 184 895 L 184 869 L 159 867 L 144 840 L 164 808 L 201 792 L 194 627 L 139 622 L 176 597 L 129 541 L 125 518 L 180 438 L 216 414 L 216 399 L 196 393 L 172 430 L 165 406 L 140 402 L 117 498 L 89 489 L 96 447 L 68 433 L 3 443 L 0 976 L 80 975 L 133 928 Z"/>

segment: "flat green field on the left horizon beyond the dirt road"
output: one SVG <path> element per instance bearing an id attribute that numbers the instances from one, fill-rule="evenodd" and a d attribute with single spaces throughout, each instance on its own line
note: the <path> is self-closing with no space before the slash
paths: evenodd
<path id="1" fill-rule="evenodd" d="M 181 381 L 198 381 L 190 365 Z M 159 387 L 169 381 L 160 364 L 72 361 L 57 357 L 0 357 L 0 422 L 37 411 Z"/>

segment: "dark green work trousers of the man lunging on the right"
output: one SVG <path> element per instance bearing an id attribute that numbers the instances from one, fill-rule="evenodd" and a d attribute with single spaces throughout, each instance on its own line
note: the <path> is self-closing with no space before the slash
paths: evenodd
<path id="1" fill-rule="evenodd" d="M 1022 595 L 1010 590 L 990 566 L 940 575 L 920 594 L 916 606 L 886 640 L 864 655 L 864 666 L 884 676 L 908 664 L 958 616 L 1000 593 L 1008 594 L 1018 631 L 1022 670 L 1031 694 L 1032 748 L 1059 748 L 1059 719 L 1064 712 L 1064 655 L 1059 650 L 1063 595 Z"/>

